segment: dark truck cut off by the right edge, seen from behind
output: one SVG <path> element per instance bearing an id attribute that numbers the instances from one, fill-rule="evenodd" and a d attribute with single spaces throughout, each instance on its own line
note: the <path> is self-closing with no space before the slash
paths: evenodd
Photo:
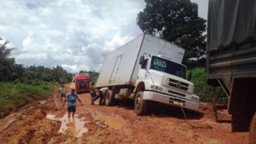
<path id="1" fill-rule="evenodd" d="M 209 0 L 207 25 L 207 84 L 228 97 L 232 131 L 246 132 L 251 122 L 256 143 L 256 1 Z"/>

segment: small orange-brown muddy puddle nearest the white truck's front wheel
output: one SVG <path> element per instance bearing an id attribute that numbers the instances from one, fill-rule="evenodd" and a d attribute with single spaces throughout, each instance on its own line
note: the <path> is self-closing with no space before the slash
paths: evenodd
<path id="1" fill-rule="evenodd" d="M 123 120 L 121 118 L 110 117 L 110 116 L 103 116 L 103 115 L 95 115 L 94 117 L 97 120 L 104 121 L 105 124 L 108 124 L 108 126 L 110 128 L 113 128 L 115 130 L 120 130 L 126 124 L 125 120 Z"/>

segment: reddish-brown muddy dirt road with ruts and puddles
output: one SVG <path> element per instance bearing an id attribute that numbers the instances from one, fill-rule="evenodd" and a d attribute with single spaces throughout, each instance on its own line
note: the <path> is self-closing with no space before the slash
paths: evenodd
<path id="1" fill-rule="evenodd" d="M 229 123 L 214 121 L 209 103 L 201 104 L 200 113 L 185 113 L 190 124 L 213 128 L 191 130 L 179 124 L 181 109 L 151 107 L 148 115 L 137 117 L 131 104 L 106 107 L 91 105 L 89 94 L 79 98 L 84 105 L 77 103 L 74 118 L 67 117 L 57 92 L 11 113 L 0 120 L 0 143 L 248 143 L 248 133 L 232 133 Z M 226 114 L 223 110 L 219 117 L 230 120 Z"/>

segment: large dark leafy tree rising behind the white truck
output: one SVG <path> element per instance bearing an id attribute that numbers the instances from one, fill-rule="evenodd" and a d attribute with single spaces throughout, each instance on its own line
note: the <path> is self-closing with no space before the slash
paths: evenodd
<path id="1" fill-rule="evenodd" d="M 137 25 L 146 33 L 159 35 L 186 50 L 183 62 L 188 67 L 204 66 L 206 20 L 198 17 L 198 5 L 190 0 L 145 0 Z M 197 62 L 200 64 L 196 64 Z M 195 65 L 196 64 L 196 65 Z"/>

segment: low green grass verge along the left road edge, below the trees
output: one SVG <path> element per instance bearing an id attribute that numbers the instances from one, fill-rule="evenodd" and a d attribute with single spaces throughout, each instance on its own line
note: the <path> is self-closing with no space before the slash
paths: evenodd
<path id="1" fill-rule="evenodd" d="M 47 99 L 51 96 L 54 86 L 49 82 L 40 84 L 24 84 L 15 82 L 0 82 L 0 118 L 12 109 L 22 107 L 33 100 Z"/>

